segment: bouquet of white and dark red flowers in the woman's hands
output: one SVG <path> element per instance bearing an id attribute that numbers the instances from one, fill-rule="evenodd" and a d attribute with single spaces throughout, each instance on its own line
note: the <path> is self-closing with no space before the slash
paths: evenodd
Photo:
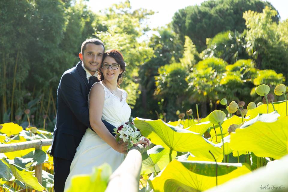
<path id="1" fill-rule="evenodd" d="M 113 133 L 119 135 L 116 139 L 117 141 L 123 139 L 124 142 L 128 142 L 128 149 L 130 149 L 133 144 L 137 144 L 142 137 L 140 130 L 135 127 L 133 121 L 128 121 L 118 128 L 114 128 L 114 131 Z"/>

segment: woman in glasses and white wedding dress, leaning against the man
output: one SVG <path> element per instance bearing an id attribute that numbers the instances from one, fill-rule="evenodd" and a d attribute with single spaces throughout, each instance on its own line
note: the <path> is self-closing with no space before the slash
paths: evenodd
<path id="1" fill-rule="evenodd" d="M 92 167 L 108 163 L 115 171 L 124 160 L 127 143 L 119 142 L 110 134 L 101 119 L 116 128 L 129 120 L 131 109 L 126 103 L 127 92 L 118 88 L 122 74 L 126 71 L 122 54 L 108 50 L 103 55 L 103 62 L 98 71 L 100 82 L 95 83 L 88 96 L 91 128 L 85 132 L 70 166 L 70 173 L 65 182 L 65 190 L 70 186 L 74 175 L 89 174 Z M 138 144 L 146 147 L 149 140 L 145 138 Z"/>

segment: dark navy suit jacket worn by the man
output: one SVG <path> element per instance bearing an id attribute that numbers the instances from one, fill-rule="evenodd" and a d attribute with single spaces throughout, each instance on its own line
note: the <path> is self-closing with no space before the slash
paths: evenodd
<path id="1" fill-rule="evenodd" d="M 72 160 L 86 129 L 93 131 L 89 122 L 89 91 L 82 62 L 62 75 L 57 90 L 57 116 L 50 153 L 53 157 Z M 103 122 L 113 134 L 115 127 Z"/>

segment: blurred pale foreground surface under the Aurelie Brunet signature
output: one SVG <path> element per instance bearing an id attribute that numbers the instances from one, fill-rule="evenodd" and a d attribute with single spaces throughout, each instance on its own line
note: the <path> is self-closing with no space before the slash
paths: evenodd
<path id="1" fill-rule="evenodd" d="M 288 156 L 205 192 L 287 191 Z M 237 186 L 237 187 L 236 187 Z M 272 189 L 274 187 L 274 190 Z M 232 189 L 232 190 L 231 190 Z M 248 190 L 247 190 L 248 189 Z M 253 190 L 252 190 L 253 189 Z"/>

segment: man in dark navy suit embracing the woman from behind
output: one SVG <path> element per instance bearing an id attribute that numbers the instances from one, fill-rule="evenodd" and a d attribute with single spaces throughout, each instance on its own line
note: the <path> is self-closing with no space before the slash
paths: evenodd
<path id="1" fill-rule="evenodd" d="M 88 94 L 91 86 L 98 82 L 97 70 L 104 54 L 104 44 L 99 39 L 88 39 L 82 43 L 80 62 L 61 77 L 57 90 L 57 117 L 50 155 L 54 157 L 55 192 L 64 191 L 70 165 L 76 148 L 91 128 L 89 122 Z M 112 134 L 114 126 L 102 120 Z M 113 134 L 114 136 L 115 134 Z"/>

